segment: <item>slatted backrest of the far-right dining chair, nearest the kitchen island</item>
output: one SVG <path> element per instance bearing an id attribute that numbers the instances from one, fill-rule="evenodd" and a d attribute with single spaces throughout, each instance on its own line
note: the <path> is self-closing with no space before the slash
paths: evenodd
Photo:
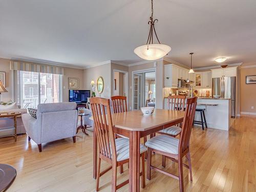
<path id="1" fill-rule="evenodd" d="M 183 95 L 168 96 L 168 110 L 184 111 L 185 99 Z"/>

